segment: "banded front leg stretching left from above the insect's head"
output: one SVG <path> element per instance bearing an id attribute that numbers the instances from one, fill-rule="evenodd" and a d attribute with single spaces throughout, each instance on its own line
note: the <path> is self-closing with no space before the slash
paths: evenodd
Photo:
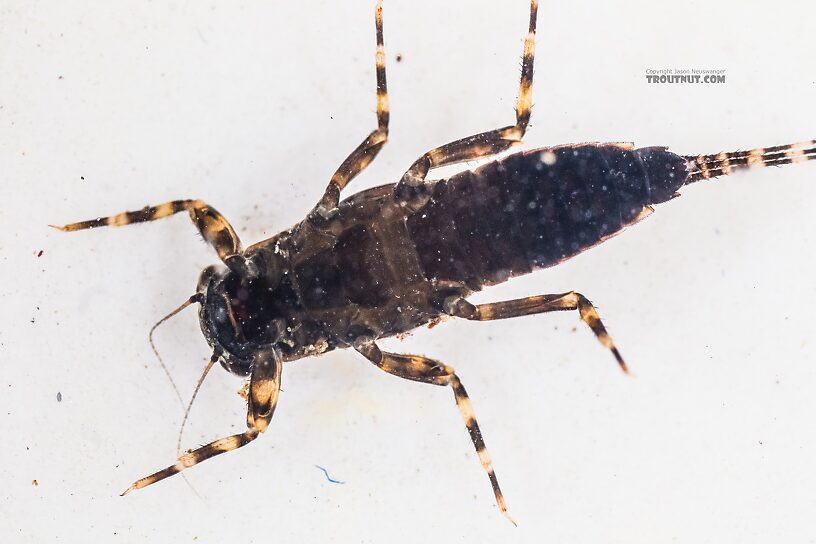
<path id="1" fill-rule="evenodd" d="M 218 210 L 209 206 L 201 200 L 172 200 L 159 204 L 158 206 L 145 206 L 141 210 L 133 212 L 122 212 L 118 215 L 110 217 L 99 217 L 97 219 L 90 219 L 88 221 L 80 221 L 78 223 L 71 223 L 58 227 L 50 225 L 55 229 L 64 232 L 71 232 L 75 230 L 93 229 L 96 227 L 122 227 L 132 223 L 146 223 L 148 221 L 156 221 L 157 219 L 164 219 L 179 212 L 188 212 L 190 219 L 204 240 L 210 244 L 218 253 L 218 257 L 231 270 L 244 275 L 254 275 L 257 270 L 255 265 L 245 259 L 241 254 L 241 240 L 232 228 L 232 225 L 218 213 Z"/>

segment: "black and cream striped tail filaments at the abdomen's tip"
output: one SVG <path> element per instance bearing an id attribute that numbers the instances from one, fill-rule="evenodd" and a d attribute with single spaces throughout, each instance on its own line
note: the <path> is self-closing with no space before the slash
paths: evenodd
<path id="1" fill-rule="evenodd" d="M 797 142 L 795 144 L 777 145 L 733 153 L 716 155 L 698 155 L 683 157 L 686 159 L 688 179 L 686 185 L 702 179 L 731 175 L 735 170 L 745 168 L 762 168 L 765 166 L 782 166 L 796 162 L 816 159 L 816 140 Z"/>

